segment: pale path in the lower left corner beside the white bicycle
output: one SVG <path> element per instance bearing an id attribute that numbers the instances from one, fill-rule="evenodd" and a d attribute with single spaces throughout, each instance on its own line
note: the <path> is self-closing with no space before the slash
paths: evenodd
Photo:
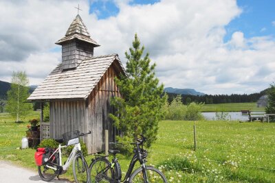
<path id="1" fill-rule="evenodd" d="M 0 161 L 0 182 L 9 183 L 34 183 L 43 182 L 39 177 L 38 171 L 32 171 L 23 167 L 17 167 L 15 164 L 10 162 Z M 53 180 L 56 183 L 65 183 L 67 180 Z"/>

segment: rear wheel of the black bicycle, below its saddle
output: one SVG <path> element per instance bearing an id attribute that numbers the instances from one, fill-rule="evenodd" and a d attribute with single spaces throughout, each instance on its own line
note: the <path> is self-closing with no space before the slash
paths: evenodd
<path id="1" fill-rule="evenodd" d="M 113 169 L 105 169 L 109 164 L 109 160 L 105 158 L 96 158 L 89 166 L 90 182 L 111 182 L 115 178 Z"/>

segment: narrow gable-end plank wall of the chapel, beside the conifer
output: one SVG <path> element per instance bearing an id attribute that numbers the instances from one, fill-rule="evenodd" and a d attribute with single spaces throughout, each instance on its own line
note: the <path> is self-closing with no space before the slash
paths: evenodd
<path id="1" fill-rule="evenodd" d="M 109 142 L 115 140 L 115 127 L 109 118 L 109 113 L 114 112 L 114 108 L 110 105 L 111 97 L 120 97 L 118 87 L 114 82 L 115 76 L 118 76 L 118 70 L 116 70 L 114 62 L 88 98 L 89 118 L 87 120 L 91 129 L 94 130 L 89 145 L 90 153 L 104 150 L 104 130 L 109 130 Z"/>

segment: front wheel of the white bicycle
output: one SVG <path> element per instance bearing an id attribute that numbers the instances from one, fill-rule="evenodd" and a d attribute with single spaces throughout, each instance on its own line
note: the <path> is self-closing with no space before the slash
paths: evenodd
<path id="1" fill-rule="evenodd" d="M 77 154 L 74 156 L 73 173 L 76 183 L 89 181 L 88 165 L 82 154 Z"/>

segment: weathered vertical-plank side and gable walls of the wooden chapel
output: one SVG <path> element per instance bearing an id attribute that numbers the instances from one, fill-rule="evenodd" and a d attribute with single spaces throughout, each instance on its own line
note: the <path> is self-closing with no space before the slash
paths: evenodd
<path id="1" fill-rule="evenodd" d="M 114 78 L 118 76 L 117 63 L 113 62 L 86 101 L 50 101 L 50 136 L 62 138 L 62 134 L 74 130 L 88 132 L 83 141 L 89 154 L 104 150 L 104 130 L 109 130 L 109 142 L 113 142 L 116 132 L 109 113 L 111 97 L 121 97 Z"/>

